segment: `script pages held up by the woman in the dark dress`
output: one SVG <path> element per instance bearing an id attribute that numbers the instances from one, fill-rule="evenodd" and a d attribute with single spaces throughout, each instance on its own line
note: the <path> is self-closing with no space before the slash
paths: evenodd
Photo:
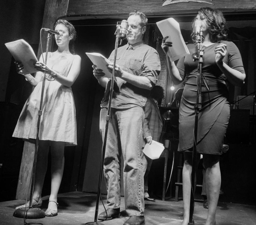
<path id="1" fill-rule="evenodd" d="M 174 18 L 168 18 L 156 22 L 163 37 L 167 37 L 166 42 L 173 42 L 173 46 L 168 49 L 167 55 L 169 55 L 171 61 L 176 61 L 189 55 L 189 50 L 180 32 L 179 23 Z"/>

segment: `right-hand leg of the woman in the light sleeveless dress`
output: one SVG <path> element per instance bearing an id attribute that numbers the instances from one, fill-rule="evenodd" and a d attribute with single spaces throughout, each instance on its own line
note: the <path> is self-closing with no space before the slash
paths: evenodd
<path id="1" fill-rule="evenodd" d="M 51 142 L 51 155 L 52 155 L 52 183 L 51 183 L 51 194 L 49 197 L 48 208 L 57 210 L 56 203 L 57 195 L 59 192 L 59 186 L 61 184 L 61 179 L 64 170 L 64 142 Z"/>

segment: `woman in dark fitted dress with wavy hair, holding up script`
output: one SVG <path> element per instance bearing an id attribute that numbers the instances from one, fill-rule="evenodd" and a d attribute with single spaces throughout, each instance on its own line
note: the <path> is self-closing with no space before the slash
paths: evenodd
<path id="1" fill-rule="evenodd" d="M 202 74 L 209 90 L 202 82 L 202 109 L 198 114 L 197 153 L 203 155 L 206 168 L 206 192 L 208 199 L 208 216 L 206 225 L 216 223 L 215 214 L 221 186 L 219 157 L 222 154 L 223 139 L 228 126 L 230 107 L 227 101 L 227 82 L 242 85 L 245 72 L 241 55 L 233 42 L 224 41 L 227 37 L 226 20 L 223 14 L 209 7 L 201 8 L 192 22 L 200 24 L 204 36 L 204 55 Z M 171 42 L 163 39 L 162 48 L 167 53 Z M 191 170 L 193 135 L 195 126 L 195 104 L 197 101 L 198 61 L 193 61 L 197 46 L 187 45 L 190 54 L 178 61 L 177 66 L 167 56 L 168 68 L 174 84 L 186 81 L 179 111 L 180 144 L 179 151 L 184 152 L 183 201 L 184 220 L 189 222 L 189 203 L 191 190 Z"/>

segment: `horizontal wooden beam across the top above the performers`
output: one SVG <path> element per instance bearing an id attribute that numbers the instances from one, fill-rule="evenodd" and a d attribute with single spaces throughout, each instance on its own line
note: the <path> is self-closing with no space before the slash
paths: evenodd
<path id="1" fill-rule="evenodd" d="M 167 3 L 171 3 L 166 5 Z M 69 0 L 67 16 L 86 18 L 120 18 L 127 17 L 128 13 L 142 11 L 147 17 L 191 15 L 200 7 L 212 7 L 222 12 L 241 13 L 256 11 L 254 0 L 205 0 L 202 3 L 175 0 Z"/>

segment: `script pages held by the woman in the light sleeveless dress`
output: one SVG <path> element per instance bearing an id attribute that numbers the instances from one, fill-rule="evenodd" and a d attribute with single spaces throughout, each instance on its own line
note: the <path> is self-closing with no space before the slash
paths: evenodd
<path id="1" fill-rule="evenodd" d="M 32 74 L 37 72 L 34 64 L 38 60 L 32 47 L 30 46 L 30 44 L 28 44 L 28 42 L 20 39 L 17 41 L 8 42 L 5 45 L 11 52 L 15 61 L 20 61 L 23 64 L 24 69 L 22 70 L 22 72 L 24 74 Z"/>

